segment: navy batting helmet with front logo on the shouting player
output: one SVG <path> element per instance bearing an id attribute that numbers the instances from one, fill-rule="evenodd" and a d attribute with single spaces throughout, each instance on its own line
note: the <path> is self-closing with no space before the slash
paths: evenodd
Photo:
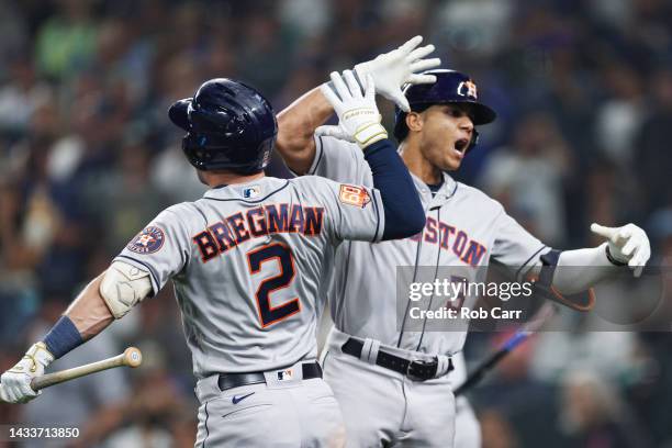
<path id="1" fill-rule="evenodd" d="M 497 116 L 492 109 L 478 101 L 477 86 L 467 75 L 446 69 L 428 70 L 424 74 L 435 75 L 436 82 L 410 85 L 404 89 L 412 111 L 422 112 L 434 104 L 466 103 L 470 104 L 470 116 L 474 126 L 491 123 Z M 406 112 L 396 108 L 394 137 L 401 142 L 407 134 Z M 479 133 L 474 130 L 469 149 L 477 144 L 478 137 Z"/>

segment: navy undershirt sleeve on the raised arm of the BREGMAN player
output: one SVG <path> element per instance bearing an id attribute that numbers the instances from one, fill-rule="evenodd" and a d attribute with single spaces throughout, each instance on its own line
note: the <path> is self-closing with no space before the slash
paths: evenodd
<path id="1" fill-rule="evenodd" d="M 406 238 L 422 232 L 425 211 L 408 172 L 392 142 L 382 139 L 365 150 L 373 173 L 373 187 L 380 191 L 385 213 L 382 239 Z"/>

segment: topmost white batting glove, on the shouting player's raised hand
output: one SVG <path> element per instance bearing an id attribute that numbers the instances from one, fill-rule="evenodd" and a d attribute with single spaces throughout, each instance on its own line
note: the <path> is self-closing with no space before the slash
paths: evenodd
<path id="1" fill-rule="evenodd" d="M 419 75 L 418 71 L 441 65 L 441 59 L 438 57 L 423 59 L 434 52 L 434 45 L 417 48 L 421 42 L 423 42 L 423 36 L 415 36 L 390 53 L 379 55 L 373 60 L 357 64 L 355 71 L 361 81 L 367 75 L 371 75 L 377 93 L 393 101 L 402 111 L 410 112 L 411 107 L 401 89 L 402 86 L 436 82 L 436 76 Z"/>

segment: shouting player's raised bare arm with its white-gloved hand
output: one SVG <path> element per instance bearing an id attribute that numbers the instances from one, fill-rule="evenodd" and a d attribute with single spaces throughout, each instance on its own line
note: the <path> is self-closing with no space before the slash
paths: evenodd
<path id="1" fill-rule="evenodd" d="M 434 45 L 417 47 L 422 36 L 415 36 L 392 52 L 376 59 L 355 66 L 355 74 L 361 81 L 367 75 L 373 77 L 376 92 L 394 101 L 402 110 L 408 111 L 408 102 L 401 87 L 405 83 L 432 83 L 436 77 L 419 75 L 438 67 L 440 59 L 424 59 L 434 52 Z M 315 128 L 328 120 L 334 112 L 332 104 L 320 87 L 309 91 L 278 114 L 278 139 L 276 147 L 287 165 L 294 172 L 307 172 L 315 156 Z"/>

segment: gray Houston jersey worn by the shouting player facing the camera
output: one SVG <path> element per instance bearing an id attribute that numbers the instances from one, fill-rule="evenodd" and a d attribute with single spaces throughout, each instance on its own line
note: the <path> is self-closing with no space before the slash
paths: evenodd
<path id="1" fill-rule="evenodd" d="M 371 186 L 372 176 L 361 150 L 333 137 L 316 137 L 309 175 L 339 182 Z M 502 205 L 475 188 L 444 175 L 436 194 L 413 176 L 427 214 L 422 234 L 369 244 L 348 242 L 337 249 L 331 311 L 338 329 L 384 345 L 432 355 L 462 349 L 466 332 L 405 332 L 396 321 L 397 266 L 486 266 L 490 259 L 523 267 L 536 264 L 546 247 L 508 216 Z M 484 276 L 485 269 L 471 269 Z M 474 279 L 467 279 L 474 280 Z M 479 279 L 482 281 L 483 279 Z"/>

